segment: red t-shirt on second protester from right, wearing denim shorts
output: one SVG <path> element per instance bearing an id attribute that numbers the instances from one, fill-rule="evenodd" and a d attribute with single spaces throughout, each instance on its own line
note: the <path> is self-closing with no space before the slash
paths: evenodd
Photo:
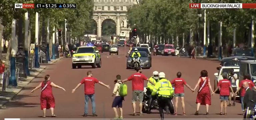
<path id="1" fill-rule="evenodd" d="M 229 88 L 231 86 L 231 82 L 227 79 L 220 80 L 218 83 L 218 87 L 220 87 L 220 96 L 229 96 Z"/>

